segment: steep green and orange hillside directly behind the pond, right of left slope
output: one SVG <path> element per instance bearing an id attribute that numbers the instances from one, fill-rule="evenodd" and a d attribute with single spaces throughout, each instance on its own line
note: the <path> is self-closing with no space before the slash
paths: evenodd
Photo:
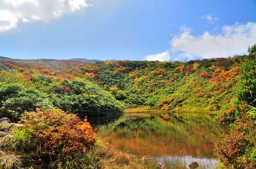
<path id="1" fill-rule="evenodd" d="M 106 61 L 81 70 L 129 107 L 215 111 L 234 97 L 243 60 Z"/>

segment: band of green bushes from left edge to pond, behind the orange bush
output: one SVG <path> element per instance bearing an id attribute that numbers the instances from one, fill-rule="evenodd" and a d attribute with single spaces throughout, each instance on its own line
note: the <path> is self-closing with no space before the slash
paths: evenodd
<path id="1" fill-rule="evenodd" d="M 54 81 L 48 91 L 39 90 L 40 88 L 24 88 L 18 83 L 0 86 L 0 118 L 18 121 L 25 110 L 34 111 L 36 107 L 57 107 L 74 112 L 81 118 L 120 114 L 123 111 L 123 105 L 119 101 L 90 81 Z M 122 93 L 118 96 L 121 97 Z"/>

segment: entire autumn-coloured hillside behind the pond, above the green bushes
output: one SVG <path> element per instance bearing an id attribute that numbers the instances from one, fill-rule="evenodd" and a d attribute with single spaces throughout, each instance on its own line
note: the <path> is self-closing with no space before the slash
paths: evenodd
<path id="1" fill-rule="evenodd" d="M 234 97 L 243 60 L 243 56 L 237 56 L 185 63 L 105 61 L 90 65 L 58 61 L 57 66 L 53 62 L 49 65 L 48 60 L 36 64 L 13 60 L 1 62 L 1 82 L 17 82 L 25 88 L 40 90 L 56 102 L 55 106 L 65 110 L 74 101 L 67 98 L 75 93 L 72 84 L 82 80 L 98 83 L 126 107 L 216 111 Z M 61 95 L 66 107 L 56 101 Z"/>

